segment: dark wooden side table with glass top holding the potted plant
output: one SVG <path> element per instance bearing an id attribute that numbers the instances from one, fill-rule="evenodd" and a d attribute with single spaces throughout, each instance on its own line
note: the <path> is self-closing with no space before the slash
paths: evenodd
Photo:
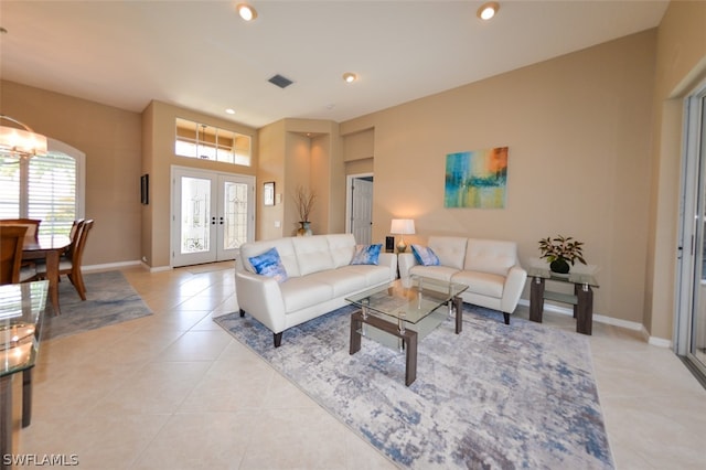
<path id="1" fill-rule="evenodd" d="M 530 320 L 542 323 L 544 301 L 569 303 L 574 306 L 576 331 L 581 334 L 591 334 L 593 325 L 593 288 L 599 287 L 591 275 L 569 274 L 557 275 L 548 269 L 531 268 L 527 275 L 532 278 L 530 287 Z M 545 281 L 573 284 L 574 293 L 554 292 L 545 290 Z"/>

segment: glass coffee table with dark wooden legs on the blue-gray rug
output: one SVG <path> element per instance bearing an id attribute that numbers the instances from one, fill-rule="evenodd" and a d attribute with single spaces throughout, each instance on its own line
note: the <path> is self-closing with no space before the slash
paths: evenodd
<path id="1" fill-rule="evenodd" d="M 361 310 L 351 316 L 351 349 L 361 350 L 361 338 L 374 339 L 385 345 L 406 350 L 405 385 L 417 378 L 417 343 L 456 312 L 456 334 L 461 332 L 462 303 L 460 293 L 468 286 L 411 276 L 397 279 L 346 297 Z M 441 307 L 448 306 L 448 313 Z"/>

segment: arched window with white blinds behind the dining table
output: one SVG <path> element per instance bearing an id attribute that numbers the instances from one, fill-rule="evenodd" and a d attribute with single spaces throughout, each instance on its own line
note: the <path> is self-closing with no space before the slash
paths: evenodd
<path id="1" fill-rule="evenodd" d="M 0 218 L 40 218 L 41 235 L 68 235 L 85 214 L 86 154 L 49 139 L 46 156 L 0 152 Z"/>

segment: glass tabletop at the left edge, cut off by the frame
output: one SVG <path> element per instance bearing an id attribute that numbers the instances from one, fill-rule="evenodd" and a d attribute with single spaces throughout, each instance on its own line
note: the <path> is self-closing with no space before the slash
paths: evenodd
<path id="1" fill-rule="evenodd" d="M 34 365 L 49 281 L 0 286 L 0 376 Z"/>

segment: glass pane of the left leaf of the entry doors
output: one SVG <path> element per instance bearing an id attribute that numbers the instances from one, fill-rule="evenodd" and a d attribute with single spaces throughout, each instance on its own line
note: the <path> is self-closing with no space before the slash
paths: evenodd
<path id="1" fill-rule="evenodd" d="M 208 252 L 211 180 L 181 179 L 181 253 Z"/>

